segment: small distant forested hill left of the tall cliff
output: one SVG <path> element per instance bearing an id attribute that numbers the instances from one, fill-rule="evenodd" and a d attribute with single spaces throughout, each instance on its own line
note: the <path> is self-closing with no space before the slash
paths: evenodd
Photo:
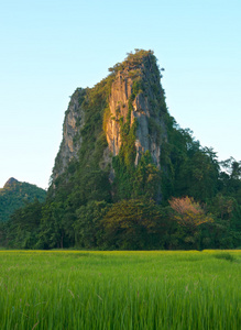
<path id="1" fill-rule="evenodd" d="M 46 191 L 35 185 L 18 182 L 11 177 L 0 189 L 0 222 L 7 221 L 12 212 L 25 202 L 44 201 Z"/>

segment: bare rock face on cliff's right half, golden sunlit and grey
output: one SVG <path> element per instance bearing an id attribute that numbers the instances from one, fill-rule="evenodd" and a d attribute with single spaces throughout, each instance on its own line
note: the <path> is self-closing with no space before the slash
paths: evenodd
<path id="1" fill-rule="evenodd" d="M 127 121 L 131 99 L 131 125 L 135 119 L 138 121 L 135 165 L 141 155 L 150 151 L 154 164 L 160 167 L 161 141 L 166 139 L 161 109 L 164 95 L 158 69 L 156 65 L 153 66 L 154 64 L 147 57 L 144 62 L 127 64 L 123 70 L 117 73 L 109 97 L 110 116 L 106 125 L 106 135 L 109 150 L 113 156 L 117 156 L 122 143 L 120 119 Z M 133 99 L 134 81 L 138 81 L 140 89 Z"/>

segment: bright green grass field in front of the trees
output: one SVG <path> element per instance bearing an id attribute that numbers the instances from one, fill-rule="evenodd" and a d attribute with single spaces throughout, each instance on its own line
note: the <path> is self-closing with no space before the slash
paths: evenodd
<path id="1" fill-rule="evenodd" d="M 0 251 L 0 329 L 238 330 L 240 287 L 241 251 Z"/>

